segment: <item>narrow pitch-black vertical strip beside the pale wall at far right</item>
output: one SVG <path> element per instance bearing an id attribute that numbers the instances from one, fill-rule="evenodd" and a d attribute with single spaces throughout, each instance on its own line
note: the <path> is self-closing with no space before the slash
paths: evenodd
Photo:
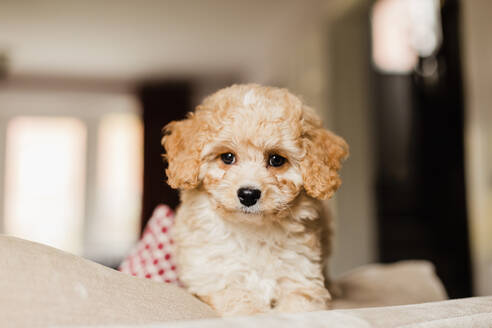
<path id="1" fill-rule="evenodd" d="M 415 76 L 422 217 L 432 227 L 437 271 L 452 297 L 471 295 L 471 261 L 464 169 L 464 101 L 459 47 L 459 3 L 441 11 L 443 44 L 437 83 Z M 432 78 L 430 78 L 432 81 Z"/>

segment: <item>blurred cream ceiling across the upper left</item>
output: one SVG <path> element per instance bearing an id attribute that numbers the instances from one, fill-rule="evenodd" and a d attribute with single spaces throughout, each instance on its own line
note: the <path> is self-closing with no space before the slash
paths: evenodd
<path id="1" fill-rule="evenodd" d="M 328 2 L 2 0 L 0 52 L 13 76 L 268 76 Z"/>

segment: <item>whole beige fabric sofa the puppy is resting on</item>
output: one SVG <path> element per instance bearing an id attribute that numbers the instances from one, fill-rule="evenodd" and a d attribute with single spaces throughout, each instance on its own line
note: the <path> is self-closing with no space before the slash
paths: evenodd
<path id="1" fill-rule="evenodd" d="M 0 236 L 0 327 L 492 327 L 492 297 L 447 300 L 425 261 L 371 264 L 335 283 L 333 310 L 219 318 L 177 286 Z"/>

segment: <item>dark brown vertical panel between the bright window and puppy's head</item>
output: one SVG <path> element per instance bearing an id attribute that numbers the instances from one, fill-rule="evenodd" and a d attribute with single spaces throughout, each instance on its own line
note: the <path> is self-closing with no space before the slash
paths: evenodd
<path id="1" fill-rule="evenodd" d="M 191 84 L 187 82 L 152 82 L 139 89 L 144 122 L 144 185 L 142 228 L 159 203 L 176 208 L 178 192 L 166 183 L 162 160 L 162 128 L 168 122 L 185 117 L 192 110 Z"/>

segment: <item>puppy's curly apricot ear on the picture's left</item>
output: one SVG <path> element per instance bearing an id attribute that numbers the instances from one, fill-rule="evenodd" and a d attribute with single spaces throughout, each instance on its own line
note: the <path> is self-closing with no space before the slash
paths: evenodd
<path id="1" fill-rule="evenodd" d="M 193 113 L 182 121 L 173 121 L 164 129 L 162 145 L 168 162 L 167 183 L 174 189 L 193 189 L 199 184 L 200 124 Z"/>

